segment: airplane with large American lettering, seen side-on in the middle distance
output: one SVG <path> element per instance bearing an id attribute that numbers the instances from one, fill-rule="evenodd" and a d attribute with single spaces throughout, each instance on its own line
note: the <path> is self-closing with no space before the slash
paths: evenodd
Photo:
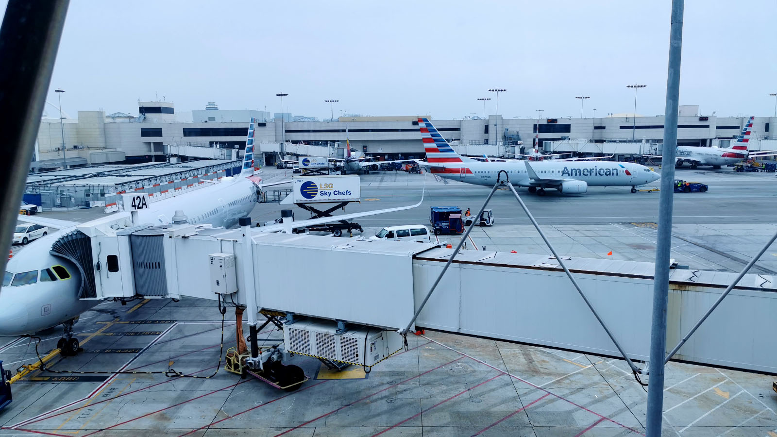
<path id="1" fill-rule="evenodd" d="M 545 188 L 555 188 L 562 193 L 585 193 L 588 186 L 631 186 L 658 180 L 660 175 L 646 166 L 618 162 L 565 162 L 559 159 L 529 163 L 528 160 L 505 162 L 480 162 L 458 155 L 451 149 L 427 118 L 419 118 L 423 146 L 427 161 L 416 161 L 437 176 L 460 180 L 467 184 L 493 186 L 500 170 L 507 171 L 513 185 L 528 187 L 530 193 L 545 195 Z"/>

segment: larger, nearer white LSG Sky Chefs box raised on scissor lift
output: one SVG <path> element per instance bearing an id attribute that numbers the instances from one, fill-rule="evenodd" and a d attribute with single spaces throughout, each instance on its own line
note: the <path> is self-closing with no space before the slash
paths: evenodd
<path id="1" fill-rule="evenodd" d="M 355 174 L 295 177 L 294 203 L 360 201 L 361 186 Z"/>

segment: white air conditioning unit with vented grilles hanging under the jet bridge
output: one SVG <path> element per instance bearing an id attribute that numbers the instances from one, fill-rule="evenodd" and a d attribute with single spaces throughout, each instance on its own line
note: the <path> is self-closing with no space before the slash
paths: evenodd
<path id="1" fill-rule="evenodd" d="M 375 365 L 402 349 L 398 332 L 359 327 L 336 334 L 333 322 L 301 320 L 284 326 L 286 349 L 294 354 L 353 365 Z"/>

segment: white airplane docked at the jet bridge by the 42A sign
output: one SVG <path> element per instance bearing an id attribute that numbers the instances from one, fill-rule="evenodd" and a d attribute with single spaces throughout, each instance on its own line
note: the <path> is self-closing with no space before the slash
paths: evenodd
<path id="1" fill-rule="evenodd" d="M 290 182 L 262 184 L 260 177 L 253 176 L 253 126 L 252 119 L 239 177 L 225 177 L 210 187 L 150 203 L 148 208 L 138 210 L 137 222 L 167 225 L 175 213 L 181 210 L 188 218 L 188 223 L 228 227 L 238 222 L 239 218 L 249 215 L 263 187 Z M 256 232 L 288 232 L 292 228 L 401 211 L 419 205 L 420 202 L 399 208 L 263 226 L 256 228 Z M 116 214 L 126 215 L 127 212 L 114 213 Z M 92 222 L 104 222 L 105 219 L 96 218 Z M 36 239 L 9 260 L 0 289 L 0 336 L 34 334 L 63 324 L 64 336 L 57 347 L 63 355 L 75 355 L 78 352 L 78 339 L 72 335 L 73 324 L 81 313 L 96 306 L 100 301 L 80 299 L 85 283 L 85 274 L 82 272 L 84 267 L 73 257 L 68 257 L 54 248 L 67 241 L 68 236 L 80 232 L 76 226 L 81 224 L 38 216 L 25 216 L 24 220 L 60 230 Z M 89 223 L 91 222 L 85 225 Z M 104 268 L 110 269 L 110 260 L 106 258 L 103 263 L 106 266 Z"/>

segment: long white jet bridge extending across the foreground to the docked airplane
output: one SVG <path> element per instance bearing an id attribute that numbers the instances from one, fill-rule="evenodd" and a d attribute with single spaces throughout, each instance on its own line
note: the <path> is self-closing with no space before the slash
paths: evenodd
<path id="1" fill-rule="evenodd" d="M 152 228 L 129 226 L 126 217 L 117 221 L 79 228 L 91 239 L 93 266 L 101 266 L 93 299 L 191 296 L 235 302 L 247 306 L 249 323 L 261 314 L 284 315 L 287 351 L 367 367 L 401 347 L 396 331 L 412 319 L 453 252 L 431 243 L 269 233 L 247 226 Z M 211 255 L 234 258 L 234 267 L 221 274 L 234 275 L 228 283 L 234 282 L 235 290 L 216 286 Z M 107 268 L 110 256 L 119 259 L 113 268 Z M 563 260 L 628 355 L 645 360 L 653 264 Z M 672 270 L 667 343 L 677 343 L 736 276 Z M 777 372 L 777 348 L 768 347 L 774 344 L 775 313 L 775 277 L 746 274 L 675 359 Z M 416 324 L 619 355 L 558 261 L 547 255 L 462 250 Z M 345 341 L 344 332 L 361 337 Z M 368 360 L 366 338 L 376 333 L 385 337 L 382 355 Z M 347 344 L 359 350 L 358 358 L 343 358 Z"/>

